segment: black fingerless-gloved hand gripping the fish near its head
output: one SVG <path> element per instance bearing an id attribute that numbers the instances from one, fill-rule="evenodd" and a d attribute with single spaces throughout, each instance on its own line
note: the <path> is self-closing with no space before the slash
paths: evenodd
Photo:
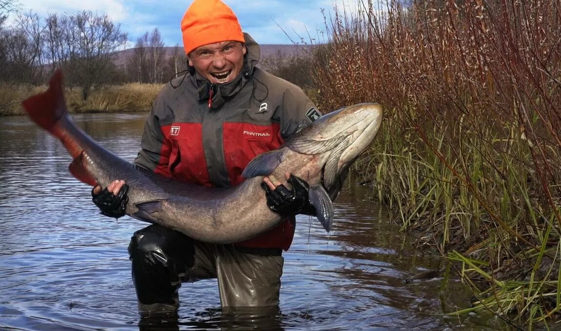
<path id="1" fill-rule="evenodd" d="M 316 216 L 317 212 L 310 204 L 308 197 L 310 188 L 308 183 L 293 174 L 288 178 L 288 183 L 292 185 L 292 190 L 288 190 L 284 185 L 279 185 L 276 189 L 271 190 L 268 185 L 261 183 L 261 187 L 265 189 L 269 208 L 283 216 L 296 214 Z"/>

